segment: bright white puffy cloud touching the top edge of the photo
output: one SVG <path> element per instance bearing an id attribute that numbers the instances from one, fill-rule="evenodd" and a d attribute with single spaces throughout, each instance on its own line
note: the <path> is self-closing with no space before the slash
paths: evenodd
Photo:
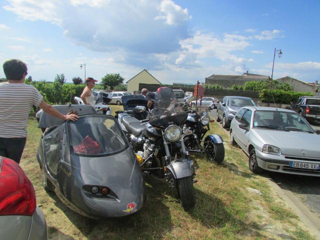
<path id="1" fill-rule="evenodd" d="M 191 18 L 186 8 L 182 9 L 171 0 L 162 0 L 159 10 L 161 15 L 157 15 L 154 19 L 164 19 L 169 25 L 183 24 L 186 20 Z"/>

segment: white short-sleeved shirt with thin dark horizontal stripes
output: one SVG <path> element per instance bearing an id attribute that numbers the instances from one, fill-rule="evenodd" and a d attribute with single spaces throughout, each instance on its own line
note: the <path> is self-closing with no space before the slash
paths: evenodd
<path id="1" fill-rule="evenodd" d="M 0 83 L 0 137 L 26 137 L 27 119 L 32 105 L 43 97 L 32 85 Z"/>

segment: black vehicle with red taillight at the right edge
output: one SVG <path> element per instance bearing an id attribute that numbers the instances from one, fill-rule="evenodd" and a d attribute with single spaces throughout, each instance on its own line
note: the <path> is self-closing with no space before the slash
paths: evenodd
<path id="1" fill-rule="evenodd" d="M 308 121 L 320 121 L 320 96 L 301 96 L 291 102 L 288 108 L 296 111 Z"/>

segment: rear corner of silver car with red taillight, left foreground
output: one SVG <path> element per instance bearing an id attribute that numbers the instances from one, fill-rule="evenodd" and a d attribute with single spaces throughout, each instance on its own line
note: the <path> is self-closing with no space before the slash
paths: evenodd
<path id="1" fill-rule="evenodd" d="M 34 188 L 15 161 L 0 156 L 0 238 L 47 239 Z"/>

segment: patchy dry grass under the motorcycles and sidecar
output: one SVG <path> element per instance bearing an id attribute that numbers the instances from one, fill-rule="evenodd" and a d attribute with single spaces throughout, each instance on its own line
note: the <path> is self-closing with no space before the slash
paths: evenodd
<path id="1" fill-rule="evenodd" d="M 122 109 L 117 105 L 111 107 L 113 114 Z M 210 132 L 224 139 L 225 160 L 217 165 L 203 155 L 192 155 L 198 180 L 194 184 L 193 209 L 184 211 L 165 181 L 150 176 L 146 178 L 147 201 L 140 212 L 120 219 L 99 220 L 73 212 L 55 194 L 43 190 L 35 158 L 41 136 L 36 125 L 36 120 L 30 118 L 20 164 L 34 185 L 37 205 L 46 217 L 49 239 L 280 239 L 283 234 L 294 239 L 313 239 L 296 216 L 278 204 L 280 200 L 266 179 L 248 170 L 247 157 L 229 144 L 228 132 L 216 122 L 210 123 Z M 251 193 L 247 187 L 261 194 Z"/>

